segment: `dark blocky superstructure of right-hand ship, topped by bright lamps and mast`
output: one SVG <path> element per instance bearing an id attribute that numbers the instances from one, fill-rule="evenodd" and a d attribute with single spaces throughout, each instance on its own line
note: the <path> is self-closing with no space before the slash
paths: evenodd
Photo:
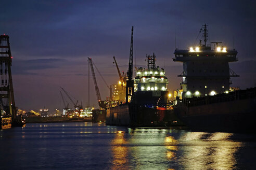
<path id="1" fill-rule="evenodd" d="M 181 89 L 182 97 L 207 96 L 217 93 L 228 93 L 232 84 L 230 77 L 238 77 L 229 68 L 229 62 L 238 61 L 235 49 L 221 46 L 222 42 L 211 42 L 207 45 L 207 26 L 203 25 L 204 44 L 186 50 L 175 49 L 173 61 L 183 63 Z"/>

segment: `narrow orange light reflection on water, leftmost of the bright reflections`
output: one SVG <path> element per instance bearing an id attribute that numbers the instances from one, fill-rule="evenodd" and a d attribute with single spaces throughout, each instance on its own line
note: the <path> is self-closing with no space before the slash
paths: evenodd
<path id="1" fill-rule="evenodd" d="M 125 165 L 128 163 L 127 150 L 125 146 L 127 141 L 124 138 L 123 131 L 117 131 L 116 137 L 111 141 L 112 150 L 112 167 L 111 169 L 125 169 Z"/>

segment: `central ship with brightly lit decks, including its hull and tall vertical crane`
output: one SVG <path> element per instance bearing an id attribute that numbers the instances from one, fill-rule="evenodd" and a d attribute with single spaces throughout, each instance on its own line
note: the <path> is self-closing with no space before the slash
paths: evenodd
<path id="1" fill-rule="evenodd" d="M 133 79 L 133 27 L 125 103 L 107 108 L 106 124 L 131 126 L 178 125 L 169 107 L 165 70 L 156 67 L 156 55 L 147 55 L 148 68 L 136 68 Z"/>

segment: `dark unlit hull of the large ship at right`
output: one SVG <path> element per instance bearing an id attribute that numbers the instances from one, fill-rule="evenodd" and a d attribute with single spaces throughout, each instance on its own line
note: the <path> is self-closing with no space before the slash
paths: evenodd
<path id="1" fill-rule="evenodd" d="M 198 131 L 255 133 L 256 98 L 188 107 L 178 101 L 175 114 Z"/>

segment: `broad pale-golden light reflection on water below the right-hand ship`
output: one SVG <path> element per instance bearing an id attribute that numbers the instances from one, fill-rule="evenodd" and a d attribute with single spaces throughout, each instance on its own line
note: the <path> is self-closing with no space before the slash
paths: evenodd
<path id="1" fill-rule="evenodd" d="M 185 169 L 233 169 L 241 143 L 229 139 L 230 133 L 191 132 L 181 137 L 185 145 L 180 164 Z"/>

